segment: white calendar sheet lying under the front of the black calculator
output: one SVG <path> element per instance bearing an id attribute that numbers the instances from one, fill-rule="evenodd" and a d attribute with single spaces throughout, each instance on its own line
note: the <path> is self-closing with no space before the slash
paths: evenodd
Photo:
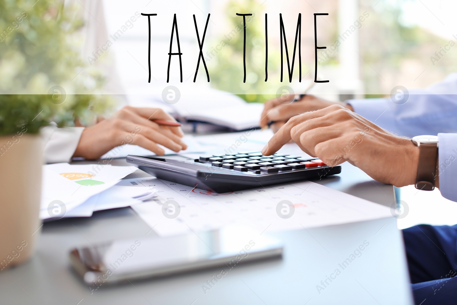
<path id="1" fill-rule="evenodd" d="M 136 183 L 158 195 L 132 209 L 160 236 L 230 224 L 249 225 L 260 233 L 392 217 L 388 207 L 309 181 L 224 194 L 157 178 Z"/>

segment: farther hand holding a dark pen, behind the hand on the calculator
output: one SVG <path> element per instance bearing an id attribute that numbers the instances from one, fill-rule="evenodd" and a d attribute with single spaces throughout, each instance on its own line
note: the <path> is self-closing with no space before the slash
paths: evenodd
<path id="1" fill-rule="evenodd" d="M 315 111 L 335 104 L 353 110 L 349 104 L 330 102 L 312 95 L 306 95 L 300 101 L 291 103 L 293 98 L 294 95 L 282 95 L 265 102 L 263 112 L 260 115 L 260 128 L 266 126 L 269 121 L 274 121 L 276 123 L 271 124 L 270 127 L 276 133 L 289 118 L 303 112 Z"/>

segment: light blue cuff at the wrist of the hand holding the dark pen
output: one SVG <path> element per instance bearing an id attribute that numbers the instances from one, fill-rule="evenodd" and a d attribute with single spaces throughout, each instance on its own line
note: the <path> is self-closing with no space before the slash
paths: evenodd
<path id="1" fill-rule="evenodd" d="M 400 134 L 394 120 L 394 111 L 392 101 L 385 98 L 369 98 L 347 100 L 348 104 L 352 106 L 354 112 L 390 131 L 393 134 Z"/>

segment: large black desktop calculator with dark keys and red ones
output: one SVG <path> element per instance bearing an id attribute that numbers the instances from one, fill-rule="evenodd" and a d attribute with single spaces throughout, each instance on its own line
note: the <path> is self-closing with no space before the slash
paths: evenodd
<path id="1" fill-rule="evenodd" d="M 316 158 L 262 155 L 261 152 L 202 155 L 198 158 L 128 155 L 127 162 L 159 179 L 214 193 L 319 179 L 341 172 L 341 166 L 327 166 Z"/>

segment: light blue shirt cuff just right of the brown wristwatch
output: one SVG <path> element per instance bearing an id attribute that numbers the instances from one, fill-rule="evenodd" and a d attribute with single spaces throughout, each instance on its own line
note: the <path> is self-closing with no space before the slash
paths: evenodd
<path id="1" fill-rule="evenodd" d="M 440 192 L 457 202 L 457 134 L 438 134 L 438 140 Z"/>

